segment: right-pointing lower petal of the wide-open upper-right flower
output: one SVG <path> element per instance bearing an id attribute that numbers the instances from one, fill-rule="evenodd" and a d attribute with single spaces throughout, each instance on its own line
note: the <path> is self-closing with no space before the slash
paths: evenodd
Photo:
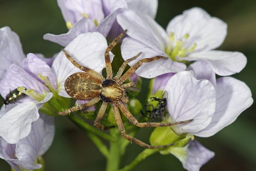
<path id="1" fill-rule="evenodd" d="M 221 50 L 191 53 L 184 59 L 187 61 L 204 60 L 212 66 L 212 70 L 219 76 L 230 76 L 239 73 L 247 63 L 243 53 Z"/>

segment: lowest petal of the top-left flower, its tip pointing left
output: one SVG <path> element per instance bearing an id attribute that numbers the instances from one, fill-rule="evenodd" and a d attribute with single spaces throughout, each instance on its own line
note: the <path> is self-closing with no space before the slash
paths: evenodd
<path id="1" fill-rule="evenodd" d="M 96 26 L 93 21 L 84 17 L 76 22 L 76 24 L 66 34 L 55 35 L 48 33 L 44 35 L 44 39 L 65 47 L 79 34 L 92 32 L 95 28 Z"/>

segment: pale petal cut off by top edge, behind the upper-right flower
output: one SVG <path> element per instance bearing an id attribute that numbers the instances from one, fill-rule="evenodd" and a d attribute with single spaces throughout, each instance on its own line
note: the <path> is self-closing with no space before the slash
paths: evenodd
<path id="1" fill-rule="evenodd" d="M 140 12 L 141 14 L 147 14 L 151 18 L 155 18 L 157 15 L 157 0 L 126 0 L 128 8 L 133 11 Z"/>

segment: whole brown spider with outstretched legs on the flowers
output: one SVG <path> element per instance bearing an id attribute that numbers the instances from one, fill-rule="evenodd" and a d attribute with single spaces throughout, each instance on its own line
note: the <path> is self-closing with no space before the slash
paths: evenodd
<path id="1" fill-rule="evenodd" d="M 123 75 L 123 71 L 125 70 L 126 65 L 131 62 L 134 59 L 137 59 L 138 56 L 140 56 L 141 53 L 137 54 L 136 56 L 125 60 L 125 62 L 122 64 L 122 66 L 119 68 L 116 76 L 113 77 L 112 73 L 112 66 L 110 61 L 110 55 L 109 52 L 112 50 L 112 48 L 116 45 L 116 43 L 119 41 L 119 39 L 122 38 L 122 36 L 125 34 L 126 30 L 123 31 L 116 39 L 113 40 L 113 42 L 106 48 L 105 50 L 105 64 L 106 64 L 106 72 L 107 76 L 104 78 L 102 75 L 97 73 L 94 70 L 91 70 L 90 68 L 84 67 L 77 63 L 72 56 L 69 55 L 69 53 L 66 50 L 62 50 L 69 59 L 69 61 L 77 68 L 84 72 L 79 73 L 73 73 L 71 76 L 67 78 L 65 81 L 64 87 L 68 95 L 70 95 L 72 98 L 77 100 L 87 100 L 91 99 L 85 104 L 81 104 L 76 107 L 71 107 L 67 110 L 64 110 L 63 112 L 58 112 L 58 115 L 67 115 L 70 112 L 74 112 L 77 110 L 81 110 L 87 107 L 92 106 L 93 104 L 96 104 L 98 101 L 102 101 L 102 105 L 99 109 L 98 115 L 94 121 L 94 125 L 96 128 L 99 129 L 107 129 L 104 125 L 102 125 L 101 119 L 107 109 L 108 104 L 110 104 L 113 107 L 113 115 L 116 120 L 118 129 L 121 133 L 121 135 L 134 143 L 137 143 L 140 146 L 143 146 L 146 149 L 158 149 L 158 148 L 164 148 L 168 146 L 172 146 L 173 144 L 167 144 L 167 145 L 161 145 L 161 146 L 150 146 L 146 143 L 144 143 L 141 140 L 138 140 L 125 132 L 125 127 L 122 123 L 121 115 L 119 113 L 119 109 L 125 115 L 128 120 L 133 123 L 135 126 L 138 127 L 159 127 L 159 126 L 174 126 L 182 123 L 188 123 L 192 120 L 187 121 L 180 121 L 180 122 L 174 122 L 174 123 L 139 123 L 137 119 L 131 114 L 131 112 L 125 107 L 125 103 L 128 103 L 129 98 L 127 94 L 125 93 L 125 88 L 133 87 L 134 83 L 129 82 L 126 84 L 123 84 L 125 80 L 127 80 L 143 63 L 153 62 L 158 59 L 166 59 L 164 56 L 154 56 L 151 58 L 144 58 L 140 59 L 138 62 L 136 62 L 130 69 L 128 69 Z"/>

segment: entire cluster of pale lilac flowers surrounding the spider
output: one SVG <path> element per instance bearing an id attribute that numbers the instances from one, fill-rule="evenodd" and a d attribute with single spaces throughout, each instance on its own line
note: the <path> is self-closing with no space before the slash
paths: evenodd
<path id="1" fill-rule="evenodd" d="M 246 65 L 240 52 L 214 50 L 227 34 L 227 24 L 201 8 L 191 8 L 174 17 L 164 30 L 154 20 L 157 0 L 57 0 L 69 31 L 45 34 L 79 64 L 98 73 L 105 68 L 106 38 L 127 29 L 122 40 L 124 60 L 141 52 L 129 63 L 153 56 L 165 59 L 143 64 L 131 79 L 152 78 L 150 97 L 167 92 L 164 122 L 192 122 L 156 128 L 151 145 L 175 143 L 160 151 L 173 154 L 189 171 L 197 171 L 214 156 L 194 136 L 209 137 L 233 123 L 253 103 L 247 85 L 230 77 Z M 0 94 L 18 89 L 26 95 L 0 110 L 0 158 L 15 170 L 39 169 L 42 155 L 54 137 L 55 112 L 70 106 L 64 82 L 81 72 L 60 51 L 46 59 L 41 54 L 24 55 L 19 37 L 9 27 L 0 29 Z M 111 61 L 113 53 L 110 53 Z M 195 61 L 195 62 L 194 62 Z M 215 75 L 223 76 L 218 79 Z M 137 84 L 138 85 L 138 84 Z M 25 89 L 24 89 L 25 87 Z M 129 107 L 136 106 L 130 101 Z M 77 101 L 77 104 L 84 103 Z M 95 111 L 93 106 L 90 111 Z M 132 111 L 132 110 L 131 110 Z M 164 137 L 164 138 L 163 138 Z"/>

